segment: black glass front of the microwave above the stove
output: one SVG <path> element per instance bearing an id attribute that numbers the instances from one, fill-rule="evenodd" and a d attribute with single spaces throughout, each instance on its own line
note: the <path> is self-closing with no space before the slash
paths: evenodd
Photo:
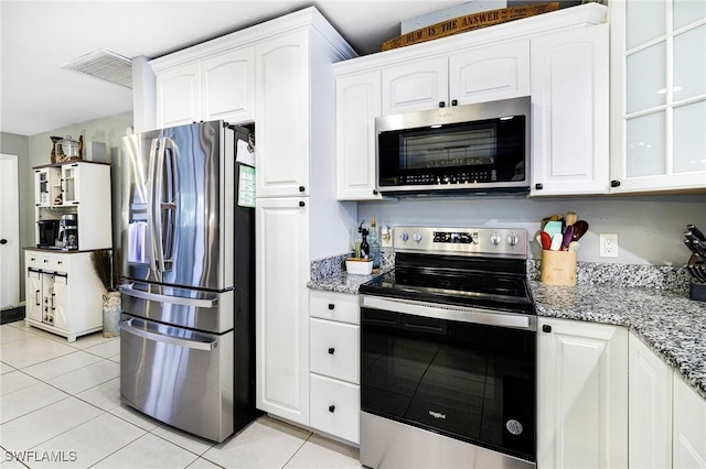
<path id="1" fill-rule="evenodd" d="M 381 186 L 525 181 L 525 116 L 381 132 Z"/>

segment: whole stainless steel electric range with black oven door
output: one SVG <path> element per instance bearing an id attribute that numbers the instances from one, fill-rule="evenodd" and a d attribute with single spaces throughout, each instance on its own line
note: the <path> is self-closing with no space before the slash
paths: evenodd
<path id="1" fill-rule="evenodd" d="M 536 314 L 523 229 L 394 229 L 361 285 L 361 462 L 536 466 Z"/>

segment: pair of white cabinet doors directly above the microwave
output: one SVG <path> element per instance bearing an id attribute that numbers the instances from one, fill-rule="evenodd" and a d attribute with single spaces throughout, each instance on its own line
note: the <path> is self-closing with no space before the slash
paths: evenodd
<path id="1" fill-rule="evenodd" d="M 383 69 L 383 116 L 530 94 L 530 41 Z"/>

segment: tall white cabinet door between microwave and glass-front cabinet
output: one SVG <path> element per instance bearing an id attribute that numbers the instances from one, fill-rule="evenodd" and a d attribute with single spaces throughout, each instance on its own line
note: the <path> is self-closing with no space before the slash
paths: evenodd
<path id="1" fill-rule="evenodd" d="M 609 190 L 608 28 L 532 40 L 532 195 Z"/>

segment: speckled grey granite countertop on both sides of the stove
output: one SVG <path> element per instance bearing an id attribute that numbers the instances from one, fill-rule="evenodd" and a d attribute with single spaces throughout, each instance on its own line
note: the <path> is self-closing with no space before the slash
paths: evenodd
<path id="1" fill-rule="evenodd" d="M 372 275 L 345 272 L 308 283 L 310 290 L 357 294 Z M 537 316 L 624 326 L 706 399 L 706 302 L 684 292 L 633 286 L 547 285 L 530 281 Z"/>

